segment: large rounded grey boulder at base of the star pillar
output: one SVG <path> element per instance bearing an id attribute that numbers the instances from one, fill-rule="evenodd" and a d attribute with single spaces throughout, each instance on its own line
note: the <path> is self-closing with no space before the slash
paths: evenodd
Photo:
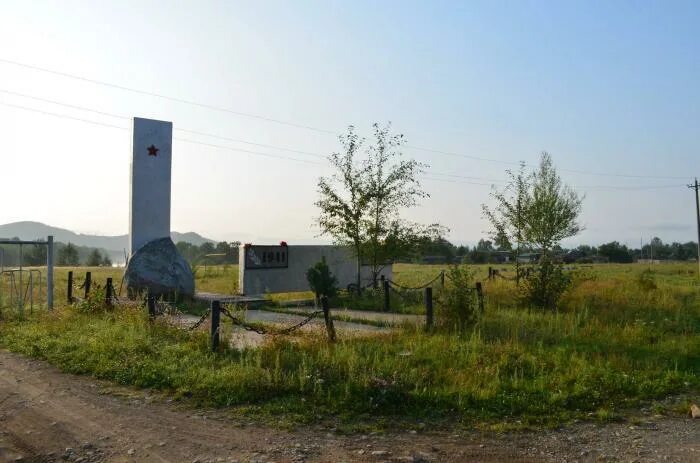
<path id="1" fill-rule="evenodd" d="M 194 296 L 194 275 L 170 238 L 149 241 L 129 259 L 124 273 L 126 288 L 134 297 L 149 292 L 156 297 Z"/>

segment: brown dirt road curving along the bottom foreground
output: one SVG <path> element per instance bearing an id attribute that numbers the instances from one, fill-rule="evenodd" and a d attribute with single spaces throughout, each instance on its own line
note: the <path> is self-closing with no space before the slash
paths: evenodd
<path id="1" fill-rule="evenodd" d="M 0 351 L 0 461 L 700 461 L 700 420 L 538 434 L 282 431 L 152 400 Z"/>

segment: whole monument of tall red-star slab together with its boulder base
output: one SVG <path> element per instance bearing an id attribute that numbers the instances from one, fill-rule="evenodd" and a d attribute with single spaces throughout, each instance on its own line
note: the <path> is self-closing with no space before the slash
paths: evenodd
<path id="1" fill-rule="evenodd" d="M 129 211 L 129 294 L 192 296 L 194 276 L 170 238 L 172 122 L 134 118 Z"/>

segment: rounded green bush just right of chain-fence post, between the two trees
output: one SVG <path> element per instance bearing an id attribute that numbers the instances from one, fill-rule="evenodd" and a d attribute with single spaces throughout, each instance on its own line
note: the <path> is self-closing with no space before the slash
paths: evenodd
<path id="1" fill-rule="evenodd" d="M 441 323 L 464 330 L 474 325 L 478 317 L 478 302 L 474 288 L 474 273 L 459 265 L 451 266 L 446 274 L 451 284 L 443 290 L 440 303 Z"/>

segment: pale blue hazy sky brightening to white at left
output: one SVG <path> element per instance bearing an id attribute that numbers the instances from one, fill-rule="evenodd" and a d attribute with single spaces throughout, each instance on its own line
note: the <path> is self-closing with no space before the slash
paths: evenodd
<path id="1" fill-rule="evenodd" d="M 374 121 L 412 147 L 462 155 L 405 150 L 431 166 L 431 198 L 407 217 L 448 226 L 456 242 L 487 231 L 481 204 L 508 163 L 542 150 L 586 194 L 573 243 L 696 236 L 685 187 L 700 175 L 696 1 L 0 1 L 0 11 L 0 223 L 126 233 L 128 118 L 140 116 L 174 123 L 173 229 L 214 239 L 313 241 L 325 161 L 250 143 L 327 154 L 334 133 L 369 134 Z"/>

